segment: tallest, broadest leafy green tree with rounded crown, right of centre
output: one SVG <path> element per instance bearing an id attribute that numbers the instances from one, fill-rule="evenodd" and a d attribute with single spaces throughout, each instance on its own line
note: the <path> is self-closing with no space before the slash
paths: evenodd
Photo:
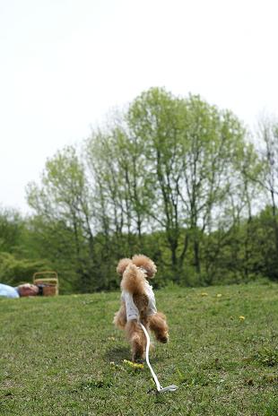
<path id="1" fill-rule="evenodd" d="M 190 245 L 200 275 L 202 238 L 227 202 L 245 129 L 230 111 L 198 96 L 175 98 L 163 89 L 138 97 L 127 120 L 144 151 L 148 213 L 165 230 L 175 280 L 180 280 Z"/>

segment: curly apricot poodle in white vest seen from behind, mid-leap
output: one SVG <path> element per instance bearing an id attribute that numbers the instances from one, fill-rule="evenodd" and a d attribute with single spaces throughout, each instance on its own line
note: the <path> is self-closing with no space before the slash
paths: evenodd
<path id="1" fill-rule="evenodd" d="M 146 338 L 142 323 L 146 330 L 154 333 L 159 342 L 168 342 L 169 327 L 166 316 L 158 312 L 154 293 L 148 279 L 157 272 L 152 260 L 143 255 L 122 258 L 117 264 L 117 273 L 121 280 L 121 307 L 114 316 L 114 324 L 126 332 L 131 345 L 132 361 L 143 360 Z"/>

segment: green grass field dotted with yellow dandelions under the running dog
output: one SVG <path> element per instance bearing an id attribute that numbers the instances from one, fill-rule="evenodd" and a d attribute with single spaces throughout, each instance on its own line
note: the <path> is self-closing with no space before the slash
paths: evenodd
<path id="1" fill-rule="evenodd" d="M 278 415 L 277 285 L 172 288 L 156 299 L 170 342 L 150 360 L 175 393 L 156 394 L 146 365 L 123 362 L 129 347 L 111 324 L 119 292 L 0 299 L 0 414 Z"/>

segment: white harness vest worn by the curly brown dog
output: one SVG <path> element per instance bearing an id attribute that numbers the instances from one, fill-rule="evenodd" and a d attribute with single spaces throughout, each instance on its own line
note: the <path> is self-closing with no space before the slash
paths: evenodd
<path id="1" fill-rule="evenodd" d="M 144 282 L 144 291 L 149 299 L 147 316 L 152 316 L 156 314 L 157 309 L 155 306 L 155 298 L 154 298 L 152 286 L 147 281 Z M 121 299 L 126 303 L 126 321 L 131 321 L 132 319 L 136 319 L 139 322 L 140 313 L 139 313 L 138 308 L 135 305 L 133 295 L 129 293 L 129 291 L 123 290 Z"/>

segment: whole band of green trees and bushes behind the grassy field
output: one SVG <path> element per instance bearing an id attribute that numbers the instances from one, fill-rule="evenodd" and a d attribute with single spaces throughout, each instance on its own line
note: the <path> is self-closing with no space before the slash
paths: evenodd
<path id="1" fill-rule="evenodd" d="M 0 212 L 0 253 L 46 259 L 65 293 L 116 288 L 118 259 L 135 253 L 160 287 L 277 280 L 277 136 L 262 124 L 256 149 L 229 110 L 144 91 L 47 161 L 29 218 Z"/>

